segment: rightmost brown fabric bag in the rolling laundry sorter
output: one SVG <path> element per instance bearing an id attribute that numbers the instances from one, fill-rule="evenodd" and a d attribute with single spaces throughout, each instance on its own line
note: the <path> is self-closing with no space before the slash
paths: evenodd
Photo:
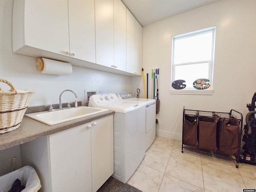
<path id="1" fill-rule="evenodd" d="M 232 117 L 230 117 L 232 118 Z M 217 124 L 219 134 L 217 136 L 217 148 L 220 153 L 238 156 L 240 121 L 221 118 Z"/>

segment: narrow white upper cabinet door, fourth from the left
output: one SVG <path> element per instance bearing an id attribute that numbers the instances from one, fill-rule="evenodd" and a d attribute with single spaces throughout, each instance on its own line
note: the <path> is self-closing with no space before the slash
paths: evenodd
<path id="1" fill-rule="evenodd" d="M 114 0 L 114 67 L 126 71 L 126 6 Z"/>

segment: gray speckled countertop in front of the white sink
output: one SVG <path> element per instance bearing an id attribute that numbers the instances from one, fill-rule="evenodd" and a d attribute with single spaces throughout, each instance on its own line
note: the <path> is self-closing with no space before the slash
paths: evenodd
<path id="1" fill-rule="evenodd" d="M 0 150 L 4 150 L 6 148 L 36 140 L 40 137 L 54 134 L 56 132 L 79 126 L 112 114 L 114 114 L 114 111 L 108 110 L 105 112 L 83 118 L 78 118 L 75 120 L 70 120 L 56 125 L 46 125 L 39 121 L 33 120 L 32 118 L 24 116 L 18 129 L 0 134 Z"/>

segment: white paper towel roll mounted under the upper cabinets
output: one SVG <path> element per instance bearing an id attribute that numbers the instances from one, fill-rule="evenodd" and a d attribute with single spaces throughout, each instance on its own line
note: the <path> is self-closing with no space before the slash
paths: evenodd
<path id="1" fill-rule="evenodd" d="M 69 63 L 47 58 L 38 58 L 36 60 L 36 68 L 44 74 L 55 75 L 70 75 L 73 70 L 72 65 Z"/>

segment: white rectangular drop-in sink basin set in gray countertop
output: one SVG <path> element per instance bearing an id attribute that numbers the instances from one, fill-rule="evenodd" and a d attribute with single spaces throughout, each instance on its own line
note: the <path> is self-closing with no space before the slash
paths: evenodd
<path id="1" fill-rule="evenodd" d="M 36 113 L 25 114 L 34 120 L 40 121 L 47 125 L 54 125 L 81 117 L 97 114 L 107 111 L 108 109 L 100 109 L 94 107 L 79 106 L 78 108 L 63 109 L 57 111 L 42 111 Z"/>

